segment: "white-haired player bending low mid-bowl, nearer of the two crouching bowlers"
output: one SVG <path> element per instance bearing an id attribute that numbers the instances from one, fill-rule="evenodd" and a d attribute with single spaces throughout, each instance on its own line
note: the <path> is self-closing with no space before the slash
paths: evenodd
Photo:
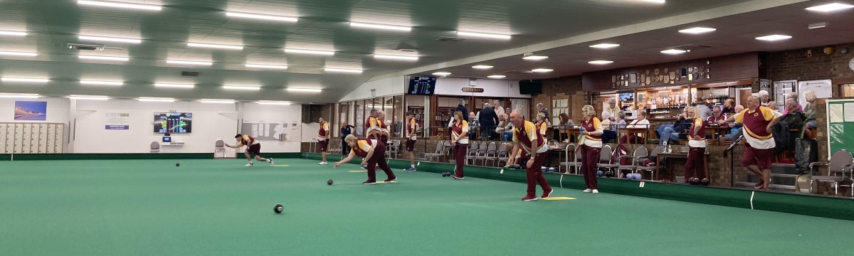
<path id="1" fill-rule="evenodd" d="M 352 134 L 345 137 L 344 141 L 353 149 L 350 149 L 350 154 L 346 158 L 337 161 L 335 167 L 341 166 L 343 163 L 349 162 L 354 157 L 359 156 L 364 158 L 361 165 L 368 166 L 368 180 L 362 184 L 371 185 L 377 183 L 377 172 L 372 171 L 376 166 L 383 169 L 385 175 L 389 177 L 385 182 L 395 181 L 397 178 L 395 172 L 391 172 L 391 168 L 385 162 L 385 144 L 383 142 L 375 139 L 356 138 Z"/>

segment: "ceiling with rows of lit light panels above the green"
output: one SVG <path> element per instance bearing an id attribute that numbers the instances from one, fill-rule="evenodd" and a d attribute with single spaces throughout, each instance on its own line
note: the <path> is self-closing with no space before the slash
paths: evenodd
<path id="1" fill-rule="evenodd" d="M 826 1 L 78 1 L 0 0 L 0 77 L 50 79 L 0 81 L 0 92 L 336 102 L 366 81 L 389 76 L 449 72 L 466 78 L 500 74 L 506 79 L 547 79 L 711 55 L 847 43 L 854 38 L 854 28 L 845 26 L 854 21 L 850 11 L 804 10 Z M 742 6 L 757 10 L 734 10 Z M 721 17 L 687 22 L 703 12 L 710 14 L 699 18 Z M 257 15 L 275 17 L 260 20 Z M 807 30 L 807 24 L 816 20 L 830 26 Z M 677 32 L 693 26 L 717 31 Z M 782 44 L 754 39 L 773 33 L 793 38 Z M 437 40 L 442 37 L 465 40 Z M 588 47 L 599 43 L 621 45 Z M 69 49 L 68 44 L 97 49 Z M 712 47 L 684 55 L 659 52 L 706 44 Z M 529 49 L 549 58 L 522 60 Z M 26 55 L 33 53 L 37 55 Z M 588 64 L 594 60 L 615 62 Z M 471 68 L 477 64 L 494 67 Z M 553 72 L 520 72 L 535 68 Z M 199 74 L 184 76 L 184 71 Z M 91 85 L 81 80 L 121 84 Z M 158 86 L 162 84 L 185 86 Z M 241 86 L 260 89 L 239 90 Z"/>

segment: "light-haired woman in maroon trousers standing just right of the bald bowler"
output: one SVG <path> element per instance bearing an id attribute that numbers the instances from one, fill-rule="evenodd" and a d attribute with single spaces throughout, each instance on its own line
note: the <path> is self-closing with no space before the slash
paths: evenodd
<path id="1" fill-rule="evenodd" d="M 602 124 L 596 118 L 596 110 L 593 106 L 585 105 L 582 108 L 584 121 L 582 121 L 581 134 L 584 136 L 584 143 L 581 145 L 582 150 L 582 174 L 584 175 L 584 183 L 587 184 L 587 189 L 584 193 L 599 193 L 596 189 L 596 164 L 599 163 L 599 154 L 602 151 Z"/>

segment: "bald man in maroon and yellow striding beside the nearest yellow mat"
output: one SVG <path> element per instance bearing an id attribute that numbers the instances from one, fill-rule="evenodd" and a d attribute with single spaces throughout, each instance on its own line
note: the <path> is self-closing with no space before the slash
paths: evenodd
<path id="1" fill-rule="evenodd" d="M 546 177 L 542 175 L 542 164 L 546 160 L 548 154 L 548 145 L 546 139 L 542 137 L 540 131 L 534 123 L 523 119 L 518 110 L 513 110 L 510 113 L 510 121 L 513 123 L 513 149 L 512 155 L 507 165 L 513 165 L 516 162 L 516 154 L 519 148 L 523 148 L 529 154 L 529 160 L 526 163 L 518 163 L 524 165 L 527 172 L 528 194 L 522 198 L 522 201 L 535 201 L 536 184 L 540 183 L 542 187 L 541 198 L 548 198 L 552 195 L 552 186 L 548 185 Z"/>

